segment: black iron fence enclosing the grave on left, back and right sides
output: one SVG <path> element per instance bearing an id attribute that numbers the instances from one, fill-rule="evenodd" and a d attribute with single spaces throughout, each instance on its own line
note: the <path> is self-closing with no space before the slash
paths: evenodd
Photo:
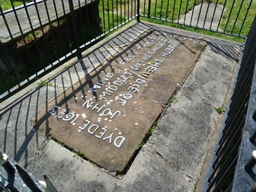
<path id="1" fill-rule="evenodd" d="M 256 147 L 256 21 L 249 35 L 246 29 L 253 23 L 256 1 L 22 0 L 20 6 L 8 1 L 8 10 L 0 4 L 1 100 L 67 59 L 82 57 L 82 50 L 140 17 L 245 38 L 223 131 L 202 191 L 254 187 L 250 152 Z"/>

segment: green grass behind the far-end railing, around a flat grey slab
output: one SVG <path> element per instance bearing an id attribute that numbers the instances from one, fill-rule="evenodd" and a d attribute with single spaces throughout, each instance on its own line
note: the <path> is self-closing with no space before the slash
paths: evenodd
<path id="1" fill-rule="evenodd" d="M 204 3 L 208 3 L 209 0 L 203 1 Z M 217 0 L 211 0 L 210 3 L 216 3 Z M 222 6 L 225 6 L 225 11 L 223 12 L 223 17 L 220 23 L 220 30 L 225 30 L 227 33 L 232 33 L 234 35 L 241 35 L 246 37 L 248 35 L 248 32 L 250 30 L 250 26 L 253 23 L 253 19 L 256 15 L 256 1 L 253 1 L 253 3 L 249 8 L 250 0 L 244 0 L 244 3 L 241 5 L 241 0 L 236 0 L 234 5 L 233 5 L 233 0 L 219 0 L 218 3 L 221 4 Z M 199 0 L 188 0 L 188 1 L 182 1 L 182 0 L 173 0 L 170 1 L 168 4 L 168 1 L 161 1 L 161 0 L 152 0 L 152 5 L 151 9 L 149 11 L 149 8 L 145 6 L 145 10 L 141 10 L 140 13 L 142 15 L 147 16 L 148 12 L 150 17 L 152 18 L 157 18 L 161 20 L 156 20 L 156 19 L 146 19 L 143 18 L 145 21 L 149 21 L 152 23 L 158 23 L 162 24 L 165 26 L 172 26 L 174 28 L 181 28 L 184 30 L 190 30 L 193 32 L 199 32 L 205 35 L 212 35 L 215 37 L 220 37 L 223 39 L 228 39 L 232 41 L 239 41 L 243 42 L 244 39 L 237 38 L 237 37 L 232 37 L 230 35 L 223 35 L 220 33 L 216 32 L 210 32 L 208 30 L 201 30 L 199 28 L 192 28 L 188 26 L 182 26 L 179 24 L 175 23 L 167 23 L 165 21 L 175 21 L 178 18 L 180 18 L 182 15 L 185 14 L 185 12 L 188 12 L 193 9 L 194 5 L 198 5 L 201 3 Z M 180 9 L 181 7 L 181 9 Z M 241 7 L 241 10 L 239 11 Z M 246 12 L 248 10 L 248 15 L 246 17 Z M 246 20 L 244 22 L 244 18 L 246 17 Z M 229 18 L 229 19 L 228 19 Z M 164 21 L 165 20 L 165 21 Z M 244 22 L 244 25 L 243 25 Z M 235 26 L 233 28 L 233 26 Z M 242 27 L 242 30 L 241 30 Z M 241 30 L 241 32 L 240 32 Z"/>

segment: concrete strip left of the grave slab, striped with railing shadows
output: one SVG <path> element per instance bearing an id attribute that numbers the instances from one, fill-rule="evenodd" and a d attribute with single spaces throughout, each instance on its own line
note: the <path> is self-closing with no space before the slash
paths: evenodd
<path id="1" fill-rule="evenodd" d="M 138 25 L 137 30 L 140 34 L 140 31 L 145 29 Z M 133 36 L 130 34 L 133 34 Z M 124 52 L 126 49 L 123 50 L 123 48 L 126 48 L 130 41 L 134 41 L 136 38 L 136 30 L 132 32 L 129 29 L 124 31 L 122 35 L 116 37 L 117 41 L 107 41 L 100 48 L 89 52 L 84 59 L 76 61 L 68 68 L 64 68 L 62 72 L 48 79 L 46 86 L 39 86 L 35 90 L 31 90 L 30 93 L 22 96 L 19 102 L 9 108 L 7 107 L 0 114 L 0 131 L 3 133 L 0 135 L 1 151 L 8 153 L 21 166 L 28 166 L 30 160 L 33 160 L 48 142 L 48 137 L 33 128 L 35 122 L 40 120 L 37 119 L 37 113 L 42 110 L 48 111 L 48 104 L 53 99 L 56 98 L 55 102 L 57 102 L 57 97 L 61 93 L 65 95 L 68 88 L 72 89 L 74 84 L 80 84 L 81 79 L 89 77 L 92 70 L 97 71 L 98 66 L 104 68 L 106 61 Z M 94 76 L 99 78 L 97 77 L 98 73 L 95 73 Z M 90 86 L 93 86 L 93 84 L 90 84 Z M 73 90 L 74 93 L 77 91 Z M 70 95 L 65 95 L 66 99 L 68 97 Z M 65 100 L 62 102 L 65 103 Z M 68 104 L 66 103 L 66 105 Z M 21 110 L 21 108 L 26 108 L 26 111 Z M 23 135 L 23 137 L 17 137 L 17 135 Z M 28 148 L 33 148 L 33 150 L 28 150 Z"/>

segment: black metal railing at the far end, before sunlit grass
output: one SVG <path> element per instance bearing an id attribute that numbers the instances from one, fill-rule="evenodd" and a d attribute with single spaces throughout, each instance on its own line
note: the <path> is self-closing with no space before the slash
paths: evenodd
<path id="1" fill-rule="evenodd" d="M 253 22 L 253 0 L 148 0 L 141 16 L 235 37 L 246 37 Z"/>

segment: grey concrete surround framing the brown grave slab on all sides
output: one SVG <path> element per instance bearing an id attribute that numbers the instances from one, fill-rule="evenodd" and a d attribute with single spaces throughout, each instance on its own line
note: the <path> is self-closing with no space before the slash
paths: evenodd
<path id="1" fill-rule="evenodd" d="M 152 30 L 205 40 L 208 45 L 180 85 L 177 99 L 161 115 L 151 137 L 154 142 L 143 146 L 125 175 L 109 173 L 80 159 L 33 128 L 37 112 L 55 97 Z M 47 175 L 60 191 L 194 191 L 219 119 L 214 107 L 223 105 L 240 46 L 173 28 L 134 23 L 121 35 L 115 33 L 93 48 L 71 68 L 49 74 L 51 86 L 30 93 L 21 91 L 17 96 L 26 94 L 17 101 L 15 97 L 9 99 L 15 102 L 0 115 L 0 150 L 40 180 Z"/>

